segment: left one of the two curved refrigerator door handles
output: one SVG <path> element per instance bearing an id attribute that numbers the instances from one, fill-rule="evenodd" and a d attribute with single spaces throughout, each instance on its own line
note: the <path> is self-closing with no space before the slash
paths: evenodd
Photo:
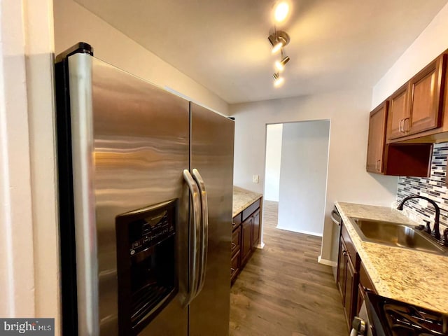
<path id="1" fill-rule="evenodd" d="M 200 204 L 200 191 L 197 188 L 195 180 L 191 176 L 188 169 L 183 170 L 183 179 L 186 181 L 188 188 L 190 189 L 191 199 L 193 201 L 193 223 L 190 223 L 190 274 L 189 274 L 189 288 L 188 294 L 183 302 L 183 307 L 188 306 L 190 302 L 197 295 L 197 288 L 200 281 L 200 221 L 201 221 L 201 204 Z M 192 234 L 193 232 L 193 234 Z"/>

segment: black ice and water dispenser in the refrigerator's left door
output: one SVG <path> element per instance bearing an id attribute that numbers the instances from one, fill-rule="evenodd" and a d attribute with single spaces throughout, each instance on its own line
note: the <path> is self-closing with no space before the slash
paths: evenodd
<path id="1" fill-rule="evenodd" d="M 178 203 L 169 200 L 116 217 L 120 335 L 137 335 L 179 290 Z"/>

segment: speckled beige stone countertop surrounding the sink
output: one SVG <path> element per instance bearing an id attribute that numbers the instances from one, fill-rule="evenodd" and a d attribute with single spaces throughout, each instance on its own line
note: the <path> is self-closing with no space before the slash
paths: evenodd
<path id="1" fill-rule="evenodd" d="M 336 202 L 379 295 L 448 314 L 448 257 L 361 241 L 349 217 L 419 225 L 396 209 Z"/>

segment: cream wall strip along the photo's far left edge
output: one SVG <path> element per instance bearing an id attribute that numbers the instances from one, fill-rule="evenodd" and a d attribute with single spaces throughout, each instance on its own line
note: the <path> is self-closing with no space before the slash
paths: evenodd
<path id="1" fill-rule="evenodd" d="M 0 316 L 31 317 L 34 244 L 22 1 L 0 6 Z"/>

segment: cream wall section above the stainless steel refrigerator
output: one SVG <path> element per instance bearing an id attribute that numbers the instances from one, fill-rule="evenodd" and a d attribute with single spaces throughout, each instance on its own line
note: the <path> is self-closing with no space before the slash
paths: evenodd
<path id="1" fill-rule="evenodd" d="M 228 116 L 228 104 L 73 0 L 54 0 L 55 53 L 82 41 L 103 59 L 161 87 L 170 87 L 202 106 Z M 151 20 L 151 18 L 148 18 Z M 151 31 L 148 31 L 151 34 Z M 182 52 L 182 50 L 179 50 Z"/>

